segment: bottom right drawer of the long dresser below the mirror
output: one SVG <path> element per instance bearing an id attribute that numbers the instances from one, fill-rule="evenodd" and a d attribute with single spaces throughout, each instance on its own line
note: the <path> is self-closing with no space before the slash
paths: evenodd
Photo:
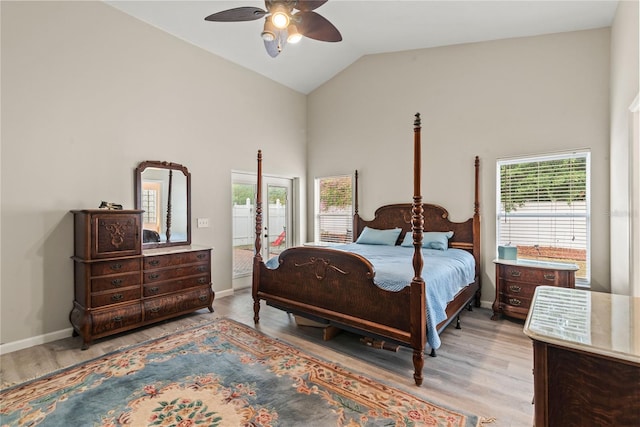
<path id="1" fill-rule="evenodd" d="M 144 301 L 145 321 L 171 316 L 181 312 L 208 307 L 213 303 L 213 291 L 202 287 L 181 294 L 151 298 Z"/>

